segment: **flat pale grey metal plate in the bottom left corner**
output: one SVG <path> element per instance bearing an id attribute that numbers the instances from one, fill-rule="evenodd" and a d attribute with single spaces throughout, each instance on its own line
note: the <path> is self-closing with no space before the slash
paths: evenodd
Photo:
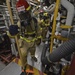
<path id="1" fill-rule="evenodd" d="M 16 63 L 11 62 L 0 72 L 0 75 L 20 75 L 20 73 L 21 73 L 21 67 Z"/>

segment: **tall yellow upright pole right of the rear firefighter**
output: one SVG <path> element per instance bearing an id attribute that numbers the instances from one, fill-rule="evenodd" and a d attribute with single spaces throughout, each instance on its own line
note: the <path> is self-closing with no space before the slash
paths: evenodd
<path id="1" fill-rule="evenodd" d="M 50 44 L 50 53 L 53 50 L 53 41 L 54 41 L 54 35 L 55 35 L 55 31 L 56 31 L 56 19 L 58 16 L 58 9 L 59 9 L 59 5 L 60 5 L 60 0 L 56 0 L 56 6 L 55 6 L 55 11 L 54 11 L 54 19 L 53 19 L 53 26 L 52 26 L 52 35 L 51 35 L 51 44 Z"/>

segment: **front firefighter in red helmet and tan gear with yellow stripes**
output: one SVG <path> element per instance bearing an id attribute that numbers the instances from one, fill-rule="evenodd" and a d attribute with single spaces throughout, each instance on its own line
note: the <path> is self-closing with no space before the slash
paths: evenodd
<path id="1" fill-rule="evenodd" d="M 27 54 L 31 53 L 31 57 L 34 61 L 37 61 L 35 57 L 36 45 L 41 42 L 41 31 L 37 25 L 37 20 L 31 16 L 31 7 L 26 0 L 18 0 L 16 8 L 20 18 L 20 39 L 19 47 L 21 52 L 22 67 L 25 69 L 27 65 Z"/>

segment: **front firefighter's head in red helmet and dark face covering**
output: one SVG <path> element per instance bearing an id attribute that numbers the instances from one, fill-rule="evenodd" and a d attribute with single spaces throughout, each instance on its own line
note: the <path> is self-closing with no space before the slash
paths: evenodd
<path id="1" fill-rule="evenodd" d="M 20 20 L 25 20 L 29 17 L 30 5 L 26 0 L 18 0 L 16 3 L 16 9 L 18 11 Z"/>

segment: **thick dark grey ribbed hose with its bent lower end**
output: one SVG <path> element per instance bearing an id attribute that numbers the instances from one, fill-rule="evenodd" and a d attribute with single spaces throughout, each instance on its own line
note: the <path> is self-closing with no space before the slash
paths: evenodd
<path id="1" fill-rule="evenodd" d="M 41 61 L 42 64 L 50 64 L 50 62 L 57 62 L 75 51 L 75 39 L 71 39 L 63 43 L 60 47 L 56 48 L 51 54 L 46 56 L 47 45 L 44 46 Z"/>

